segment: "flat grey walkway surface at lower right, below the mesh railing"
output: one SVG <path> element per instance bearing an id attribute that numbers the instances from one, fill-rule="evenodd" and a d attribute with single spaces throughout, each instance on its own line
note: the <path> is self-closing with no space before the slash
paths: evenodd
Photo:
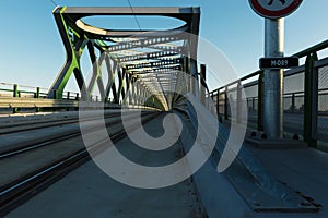
<path id="1" fill-rule="evenodd" d="M 327 217 L 328 211 L 324 209 L 328 203 L 327 153 L 309 147 L 265 149 L 249 144 L 246 147 L 279 181 L 320 205 L 323 208 L 316 217 Z"/>

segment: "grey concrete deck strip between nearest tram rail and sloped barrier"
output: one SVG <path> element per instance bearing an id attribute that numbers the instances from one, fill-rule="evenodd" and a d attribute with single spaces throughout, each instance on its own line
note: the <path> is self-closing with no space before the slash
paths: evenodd
<path id="1" fill-rule="evenodd" d="M 145 125 L 150 134 L 163 131 L 156 118 Z M 175 161 L 179 158 L 179 141 L 160 156 L 133 148 L 130 140 L 116 144 L 120 152 L 131 155 L 144 165 Z M 161 159 L 159 159 L 161 157 Z M 93 161 L 78 168 L 8 217 L 201 217 L 192 183 L 188 180 L 171 187 L 141 190 L 121 184 L 104 172 Z"/>

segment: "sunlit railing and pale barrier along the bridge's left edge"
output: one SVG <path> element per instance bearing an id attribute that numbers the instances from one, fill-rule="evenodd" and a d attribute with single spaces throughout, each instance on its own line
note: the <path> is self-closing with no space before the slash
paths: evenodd
<path id="1" fill-rule="evenodd" d="M 83 100 L 79 93 L 65 92 L 62 99 L 49 99 L 48 93 L 47 88 L 0 83 L 0 113 L 78 110 L 79 100 Z M 104 99 L 97 95 L 90 95 L 87 102 L 93 108 L 98 102 L 104 102 Z M 106 109 L 155 109 L 154 104 L 126 105 L 122 101 L 115 102 L 112 98 L 104 104 L 104 107 Z"/>

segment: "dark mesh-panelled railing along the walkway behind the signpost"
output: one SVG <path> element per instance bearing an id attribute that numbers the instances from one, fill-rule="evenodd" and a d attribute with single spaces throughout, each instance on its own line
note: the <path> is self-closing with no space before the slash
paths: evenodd
<path id="1" fill-rule="evenodd" d="M 313 147 L 318 141 L 328 143 L 328 58 L 318 59 L 317 52 L 328 48 L 328 40 L 293 56 L 305 58 L 305 64 L 284 71 L 284 133 L 297 133 Z M 216 106 L 218 117 L 231 119 L 231 108 L 247 101 L 248 126 L 263 131 L 263 71 L 256 71 L 231 82 L 208 95 Z M 242 96 L 244 88 L 246 96 Z M 229 99 L 233 99 L 229 102 Z M 294 114 L 294 117 L 292 117 Z M 296 117 L 298 114 L 298 117 Z M 323 118 L 324 116 L 324 118 Z M 238 120 L 238 112 L 236 114 Z M 291 128 L 294 123 L 297 129 Z"/>

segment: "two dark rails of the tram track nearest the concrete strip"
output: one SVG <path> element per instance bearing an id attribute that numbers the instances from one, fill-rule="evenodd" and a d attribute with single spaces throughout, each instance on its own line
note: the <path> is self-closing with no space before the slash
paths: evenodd
<path id="1" fill-rule="evenodd" d="M 142 123 L 149 122 L 154 119 L 159 113 L 148 112 L 142 116 Z M 119 119 L 120 120 L 120 119 Z M 108 132 L 110 140 L 116 143 L 124 138 L 129 131 L 133 131 L 140 125 L 131 125 L 129 130 L 125 130 L 120 125 L 120 121 L 112 121 L 112 123 L 106 123 L 106 128 L 115 128 L 115 131 Z M 94 128 L 94 126 L 93 126 Z M 96 131 L 93 129 L 93 131 Z M 80 133 L 81 135 L 81 133 Z M 58 146 L 58 144 L 65 141 L 72 140 L 73 137 L 79 137 L 78 133 L 74 136 L 69 136 L 68 138 L 60 137 L 54 142 L 48 142 L 49 146 Z M 44 142 L 47 143 L 47 142 Z M 80 147 L 74 152 L 67 154 L 65 157 L 56 158 L 55 161 L 50 161 L 45 166 L 39 166 L 35 170 L 19 177 L 5 184 L 0 186 L 0 217 L 4 216 L 7 213 L 25 202 L 26 199 L 33 197 L 35 194 L 39 193 L 47 186 L 51 185 L 56 181 L 60 180 L 62 177 L 68 174 L 70 171 L 74 170 L 85 161 L 90 160 L 89 153 L 97 153 L 106 148 L 108 144 L 107 138 L 99 138 L 94 145 L 89 148 Z M 21 153 L 12 154 L 0 158 L 0 165 L 2 160 L 10 161 L 11 158 L 24 158 L 26 154 L 37 153 L 38 149 L 45 149 L 48 147 L 35 145 L 34 149 L 25 149 Z M 40 152 L 42 154 L 42 152 Z M 27 155 L 28 156 L 28 155 Z"/>

